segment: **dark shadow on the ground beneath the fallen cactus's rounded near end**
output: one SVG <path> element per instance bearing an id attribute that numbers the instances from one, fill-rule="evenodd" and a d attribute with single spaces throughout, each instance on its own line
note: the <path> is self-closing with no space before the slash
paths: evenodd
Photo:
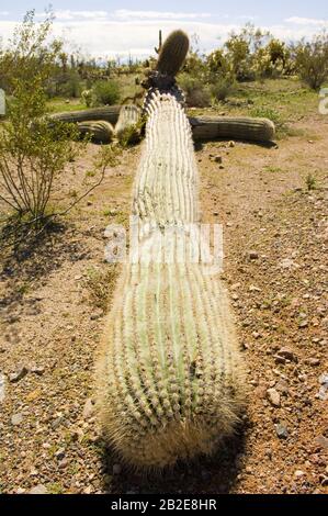
<path id="1" fill-rule="evenodd" d="M 122 465 L 111 449 L 102 448 L 102 492 L 114 494 L 227 494 L 234 492 L 246 448 L 246 424 L 211 457 L 200 456 L 166 470 L 134 471 Z"/>

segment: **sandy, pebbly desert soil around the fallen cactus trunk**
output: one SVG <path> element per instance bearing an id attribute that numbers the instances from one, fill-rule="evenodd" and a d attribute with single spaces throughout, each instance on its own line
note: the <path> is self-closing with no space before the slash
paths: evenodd
<path id="1" fill-rule="evenodd" d="M 223 278 L 250 386 L 239 434 L 211 459 L 136 475 L 104 449 L 97 424 L 103 292 L 120 272 L 103 259 L 103 233 L 109 223 L 127 224 L 138 148 L 37 248 L 2 260 L 3 493 L 327 492 L 326 119 L 303 120 L 302 136 L 278 148 L 197 149 L 203 221 L 224 224 Z M 94 152 L 68 167 L 60 195 L 84 180 Z M 309 172 L 317 188 L 308 192 Z"/>

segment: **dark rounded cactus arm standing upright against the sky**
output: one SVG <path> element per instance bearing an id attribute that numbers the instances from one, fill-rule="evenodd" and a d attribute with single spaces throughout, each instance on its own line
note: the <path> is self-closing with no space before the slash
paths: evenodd
<path id="1" fill-rule="evenodd" d="M 183 31 L 173 31 L 165 41 L 157 61 L 157 71 L 176 77 L 189 51 L 189 37 Z"/>

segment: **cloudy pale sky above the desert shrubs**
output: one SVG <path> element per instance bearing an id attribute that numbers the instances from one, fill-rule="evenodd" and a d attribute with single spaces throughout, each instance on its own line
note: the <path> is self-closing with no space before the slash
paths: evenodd
<path id="1" fill-rule="evenodd" d="M 35 9 L 41 20 L 47 4 L 46 0 L 0 0 L 0 37 L 10 36 L 27 9 Z M 53 0 L 52 4 L 54 33 L 94 57 L 147 56 L 154 53 L 159 29 L 165 35 L 179 27 L 197 34 L 204 52 L 248 21 L 286 41 L 328 30 L 327 0 Z"/>

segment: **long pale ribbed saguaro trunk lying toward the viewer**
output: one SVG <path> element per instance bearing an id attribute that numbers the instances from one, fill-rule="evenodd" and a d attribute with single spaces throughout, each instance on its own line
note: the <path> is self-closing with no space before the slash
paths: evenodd
<path id="1" fill-rule="evenodd" d="M 227 295 L 201 263 L 146 259 L 156 226 L 199 222 L 197 169 L 188 119 L 170 94 L 147 104 L 135 180 L 139 259 L 125 266 L 100 361 L 104 434 L 135 467 L 163 468 L 211 452 L 245 404 L 244 373 Z"/>

